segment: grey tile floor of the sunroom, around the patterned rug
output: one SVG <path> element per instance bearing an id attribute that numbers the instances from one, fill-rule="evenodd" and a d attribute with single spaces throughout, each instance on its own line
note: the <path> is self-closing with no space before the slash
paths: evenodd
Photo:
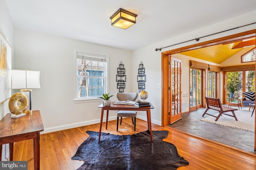
<path id="1" fill-rule="evenodd" d="M 243 109 L 248 109 L 248 107 Z M 200 121 L 203 118 L 204 111 L 205 108 L 202 108 L 183 114 L 182 119 L 173 123 L 170 127 L 256 154 L 254 133 Z M 209 115 L 204 117 L 207 116 Z"/>

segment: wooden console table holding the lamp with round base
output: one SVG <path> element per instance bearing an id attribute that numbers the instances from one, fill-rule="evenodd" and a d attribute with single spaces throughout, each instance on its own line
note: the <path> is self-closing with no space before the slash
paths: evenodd
<path id="1" fill-rule="evenodd" d="M 39 110 L 26 113 L 25 116 L 11 118 L 8 113 L 0 121 L 0 160 L 2 145 L 9 143 L 10 160 L 13 160 L 14 142 L 27 139 L 34 140 L 34 170 L 40 170 L 40 132 L 44 130 Z"/>

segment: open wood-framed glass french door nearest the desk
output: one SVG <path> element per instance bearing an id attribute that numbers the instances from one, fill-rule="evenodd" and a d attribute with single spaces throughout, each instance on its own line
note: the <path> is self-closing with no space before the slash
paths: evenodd
<path id="1" fill-rule="evenodd" d="M 172 124 L 181 119 L 181 60 L 169 56 L 169 115 Z"/>

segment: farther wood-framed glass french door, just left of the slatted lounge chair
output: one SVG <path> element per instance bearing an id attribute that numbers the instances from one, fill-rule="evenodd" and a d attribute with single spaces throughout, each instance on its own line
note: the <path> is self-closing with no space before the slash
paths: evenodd
<path id="1" fill-rule="evenodd" d="M 202 69 L 190 68 L 190 111 L 202 107 Z"/>

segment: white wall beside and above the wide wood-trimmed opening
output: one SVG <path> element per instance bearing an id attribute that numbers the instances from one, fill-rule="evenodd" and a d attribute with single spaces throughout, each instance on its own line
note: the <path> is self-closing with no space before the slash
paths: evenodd
<path id="1" fill-rule="evenodd" d="M 202 29 L 198 29 L 197 31 L 193 31 L 190 33 L 186 33 L 184 35 L 180 35 L 179 37 L 174 37 L 172 39 L 168 39 L 166 41 L 158 42 L 152 45 L 149 45 L 147 47 L 143 47 L 140 49 L 137 49 L 132 52 L 132 60 L 133 60 L 133 76 L 137 76 L 136 69 L 138 69 L 138 64 L 140 61 L 144 63 L 144 67 L 146 68 L 146 91 L 149 93 L 148 101 L 152 102 L 154 105 L 154 109 L 151 111 L 151 116 L 152 116 L 152 122 L 156 123 L 158 125 L 161 125 L 161 120 L 162 120 L 162 103 L 161 103 L 161 89 L 157 88 L 157 84 L 160 84 L 162 82 L 162 68 L 161 68 L 161 53 L 164 51 L 169 51 L 172 49 L 177 49 L 180 47 L 185 47 L 188 45 L 193 45 L 196 43 L 201 43 L 204 41 L 209 41 L 212 39 L 217 39 L 220 37 L 225 37 L 228 35 L 233 35 L 236 33 L 241 33 L 244 31 L 249 31 L 252 29 L 255 29 L 255 24 L 254 25 L 249 25 L 246 27 L 241 27 L 238 29 L 234 29 L 231 31 L 227 31 L 224 33 L 212 35 L 209 37 L 201 38 L 200 41 L 190 41 L 187 43 L 182 43 L 180 45 L 175 45 L 172 47 L 167 47 L 169 45 L 181 43 L 184 41 L 188 41 L 190 39 L 195 39 L 196 37 L 203 37 L 205 35 L 209 35 L 212 33 L 224 31 L 227 29 L 235 28 L 235 27 L 240 27 L 242 25 L 246 25 L 249 23 L 254 23 L 256 21 L 256 10 L 253 12 L 249 12 L 247 14 L 244 14 L 242 16 L 238 16 L 236 18 L 232 18 L 230 20 L 222 21 L 221 23 L 216 23 L 214 25 L 209 25 L 208 27 L 204 27 Z M 161 25 L 159 25 L 161 26 Z M 189 27 L 189 25 L 188 25 Z M 162 51 L 154 51 L 156 48 L 162 48 L 162 47 L 167 47 L 162 49 Z M 177 55 L 176 55 L 177 56 Z M 185 59 L 184 59 L 185 58 Z M 182 59 L 182 91 L 183 92 L 189 92 L 189 83 L 188 83 L 188 62 L 191 59 L 190 57 L 180 57 Z M 195 60 L 195 59 L 194 59 Z M 133 84 L 133 89 L 136 89 L 138 84 Z M 182 101 L 186 101 L 186 99 L 182 98 Z M 146 116 L 143 113 L 139 113 L 138 117 L 141 119 L 146 120 Z"/>

